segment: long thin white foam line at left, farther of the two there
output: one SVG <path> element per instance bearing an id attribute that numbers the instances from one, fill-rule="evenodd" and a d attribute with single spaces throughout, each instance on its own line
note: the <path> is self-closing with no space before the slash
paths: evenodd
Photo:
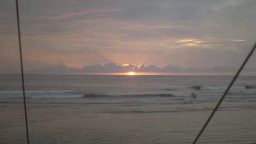
<path id="1" fill-rule="evenodd" d="M 36 93 L 72 93 L 75 90 L 38 90 L 38 91 L 25 91 L 25 93 L 36 94 Z M 0 94 L 22 94 L 23 91 L 0 91 Z"/>

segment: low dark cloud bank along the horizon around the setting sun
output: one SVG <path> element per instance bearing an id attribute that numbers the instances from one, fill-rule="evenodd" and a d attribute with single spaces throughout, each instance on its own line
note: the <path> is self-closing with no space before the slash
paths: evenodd
<path id="1" fill-rule="evenodd" d="M 153 64 L 148 66 L 141 65 L 136 66 L 134 64 L 129 65 L 118 65 L 113 62 L 109 62 L 107 64 L 95 64 L 95 65 L 88 65 L 81 69 L 79 68 L 72 68 L 67 67 L 65 64 L 59 64 L 56 67 L 46 67 L 42 69 L 29 69 L 24 70 L 25 74 L 72 74 L 72 73 L 120 73 L 120 72 L 166 72 L 166 73 L 234 73 L 237 71 L 238 68 L 236 67 L 227 67 L 227 66 L 216 66 L 211 68 L 195 68 L 195 67 L 188 67 L 183 68 L 174 65 L 167 65 L 165 67 L 157 67 Z M 251 74 L 256 74 L 256 69 L 252 68 L 244 68 L 243 72 L 249 72 Z M 0 73 L 5 74 L 19 74 L 20 71 L 18 70 L 4 70 L 0 71 Z"/>

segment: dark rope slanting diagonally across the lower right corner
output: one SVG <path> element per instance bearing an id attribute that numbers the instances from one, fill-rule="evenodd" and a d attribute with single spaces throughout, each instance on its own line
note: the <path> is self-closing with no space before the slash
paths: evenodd
<path id="1" fill-rule="evenodd" d="M 193 142 L 193 144 L 195 144 L 197 142 L 197 140 L 199 139 L 199 137 L 201 136 L 201 134 L 203 133 L 203 131 L 205 130 L 206 126 L 208 125 L 208 123 L 210 122 L 211 118 L 213 117 L 214 113 L 216 112 L 216 110 L 219 108 L 219 105 L 221 104 L 221 102 L 223 101 L 224 97 L 227 95 L 227 92 L 229 91 L 229 89 L 231 88 L 231 86 L 233 85 L 233 83 L 235 82 L 235 80 L 237 79 L 238 75 L 240 74 L 240 72 L 242 71 L 243 67 L 245 66 L 245 64 L 247 63 L 248 59 L 251 57 L 251 55 L 253 54 L 253 51 L 256 48 L 256 43 L 254 44 L 253 48 L 251 49 L 250 53 L 248 54 L 248 56 L 246 57 L 245 61 L 243 62 L 243 64 L 241 65 L 241 67 L 239 68 L 239 70 L 237 71 L 236 75 L 234 76 L 233 80 L 231 81 L 231 83 L 229 84 L 227 90 L 225 91 L 225 93 L 223 94 L 223 96 L 221 97 L 221 99 L 219 100 L 218 104 L 216 105 L 215 109 L 213 110 L 213 112 L 211 113 L 210 117 L 208 118 L 208 120 L 206 121 L 205 125 L 203 126 L 203 128 L 201 129 L 200 133 L 198 133 L 195 141 Z"/>

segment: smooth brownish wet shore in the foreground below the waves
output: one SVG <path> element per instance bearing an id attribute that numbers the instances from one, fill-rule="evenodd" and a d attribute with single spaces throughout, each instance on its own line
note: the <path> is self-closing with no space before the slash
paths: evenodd
<path id="1" fill-rule="evenodd" d="M 191 144 L 215 104 L 27 104 L 29 138 L 31 144 Z M 255 144 L 255 101 L 222 105 L 198 144 Z M 0 103 L 0 115 L 0 143 L 25 143 L 23 104 Z"/>

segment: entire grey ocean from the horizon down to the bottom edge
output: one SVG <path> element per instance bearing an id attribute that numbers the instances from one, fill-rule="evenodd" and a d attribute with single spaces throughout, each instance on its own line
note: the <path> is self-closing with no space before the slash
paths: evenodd
<path id="1" fill-rule="evenodd" d="M 191 144 L 232 80 L 171 75 L 24 77 L 31 144 Z M 26 142 L 21 90 L 21 75 L 0 75 L 1 144 Z M 256 76 L 240 76 L 198 143 L 256 144 L 255 111 Z"/>

